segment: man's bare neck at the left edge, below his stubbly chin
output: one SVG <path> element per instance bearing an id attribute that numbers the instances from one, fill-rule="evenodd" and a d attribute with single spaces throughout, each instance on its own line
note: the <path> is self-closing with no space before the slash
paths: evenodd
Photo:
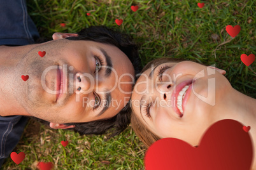
<path id="1" fill-rule="evenodd" d="M 0 115 L 29 115 L 13 95 L 17 64 L 32 48 L 28 46 L 0 46 Z"/>

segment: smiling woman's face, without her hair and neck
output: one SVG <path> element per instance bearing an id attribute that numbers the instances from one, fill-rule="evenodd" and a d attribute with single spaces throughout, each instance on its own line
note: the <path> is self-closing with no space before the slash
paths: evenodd
<path id="1" fill-rule="evenodd" d="M 195 62 L 163 63 L 141 74 L 131 103 L 134 114 L 160 138 L 198 145 L 219 119 L 222 95 L 232 89 L 225 71 Z"/>

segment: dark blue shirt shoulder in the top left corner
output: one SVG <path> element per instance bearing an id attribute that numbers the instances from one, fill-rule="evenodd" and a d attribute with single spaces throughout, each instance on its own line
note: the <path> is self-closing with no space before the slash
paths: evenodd
<path id="1" fill-rule="evenodd" d="M 38 37 L 25 0 L 0 0 L 0 45 L 34 44 Z"/>

